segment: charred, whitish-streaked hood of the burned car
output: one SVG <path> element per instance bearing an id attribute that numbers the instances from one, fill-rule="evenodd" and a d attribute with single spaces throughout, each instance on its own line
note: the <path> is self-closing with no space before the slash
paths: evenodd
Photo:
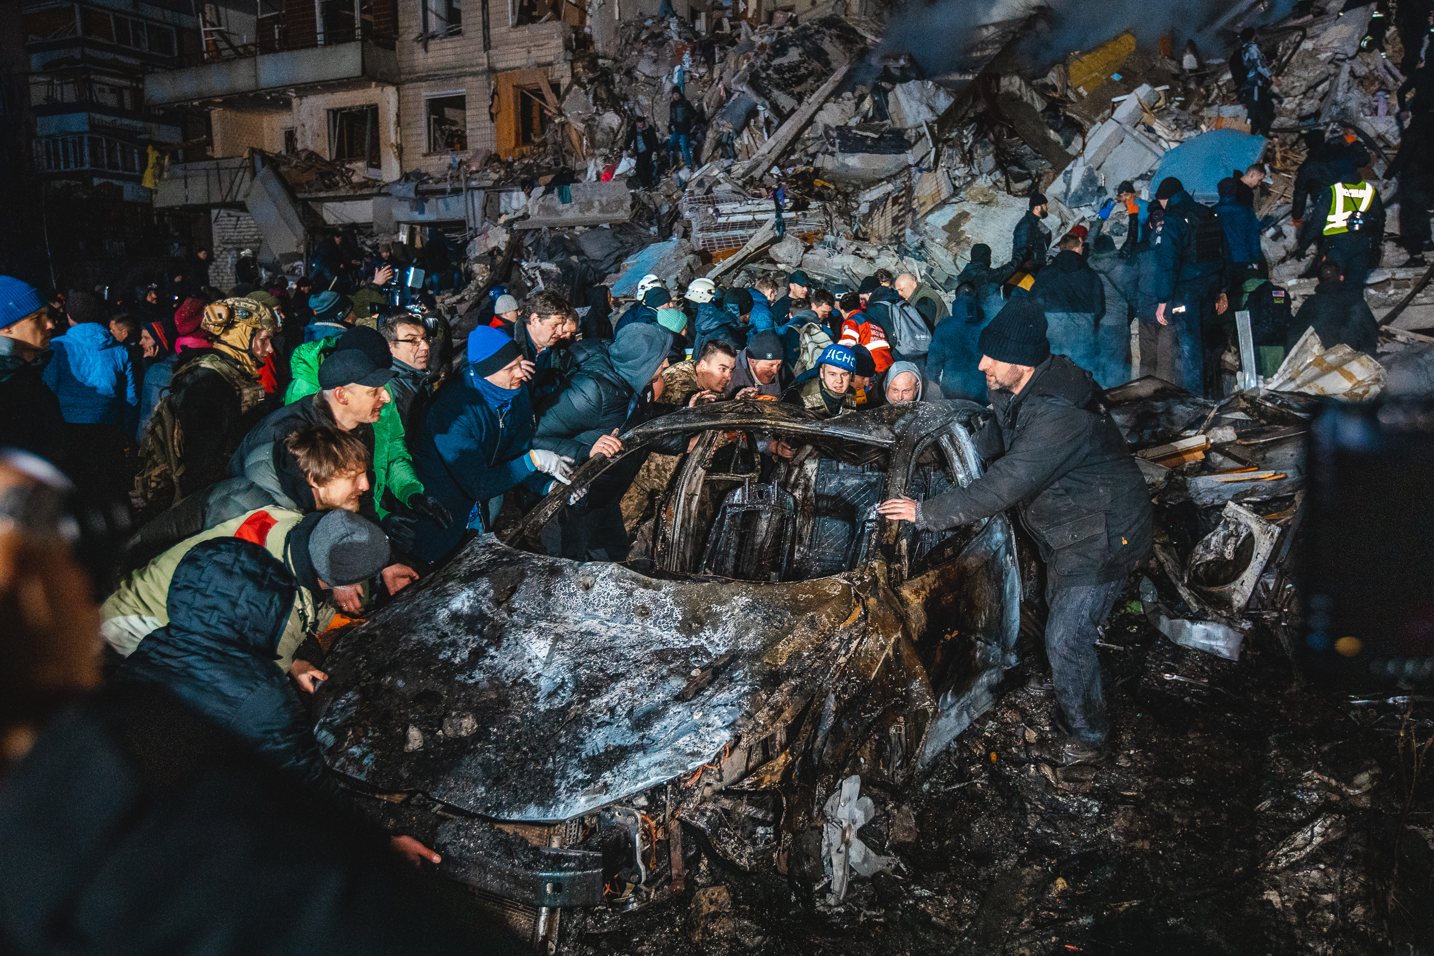
<path id="1" fill-rule="evenodd" d="M 488 535 L 343 636 L 320 747 L 379 791 L 566 820 L 691 775 L 786 679 L 829 672 L 865 580 L 663 580 Z"/>

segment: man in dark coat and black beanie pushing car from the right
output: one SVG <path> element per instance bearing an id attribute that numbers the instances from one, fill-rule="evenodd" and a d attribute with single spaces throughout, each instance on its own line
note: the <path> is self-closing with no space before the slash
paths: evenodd
<path id="1" fill-rule="evenodd" d="M 1045 649 L 1068 734 L 1054 758 L 1098 760 L 1108 722 L 1096 641 L 1150 550 L 1150 496 L 1090 373 L 1051 355 L 1035 300 L 1011 300 L 982 330 L 981 353 L 995 411 L 977 439 L 985 476 L 925 502 L 889 499 L 878 512 L 944 530 L 1020 510 L 1045 562 Z"/>

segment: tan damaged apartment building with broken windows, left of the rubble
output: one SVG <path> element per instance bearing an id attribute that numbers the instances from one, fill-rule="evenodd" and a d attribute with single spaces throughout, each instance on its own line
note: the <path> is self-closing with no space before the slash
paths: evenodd
<path id="1" fill-rule="evenodd" d="M 389 202 L 383 185 L 424 173 L 452 183 L 475 156 L 521 156 L 541 143 L 587 20 L 565 0 L 201 9 L 202 57 L 146 76 L 145 99 L 208 115 L 214 158 L 172 165 L 155 205 L 211 211 L 221 285 L 241 248 L 287 264 L 324 225 L 396 234 L 465 222 L 473 215 L 465 202 L 476 198 L 424 202 L 429 189 L 419 186 L 407 202 Z M 267 165 L 287 188 L 264 175 Z M 294 206 L 287 193 L 305 202 Z"/>

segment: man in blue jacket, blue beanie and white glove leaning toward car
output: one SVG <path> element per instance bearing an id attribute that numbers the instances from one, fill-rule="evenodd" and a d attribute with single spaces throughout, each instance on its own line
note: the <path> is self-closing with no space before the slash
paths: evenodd
<path id="1" fill-rule="evenodd" d="M 467 367 L 439 391 L 410 436 L 424 490 L 459 519 L 447 527 L 419 519 L 417 558 L 435 565 L 462 543 L 466 527 L 488 530 L 493 506 L 511 487 L 542 493 L 549 476 L 568 480 L 571 459 L 532 449 L 533 407 L 525 384 L 532 373 L 533 364 L 500 330 L 482 325 L 469 333 Z"/>

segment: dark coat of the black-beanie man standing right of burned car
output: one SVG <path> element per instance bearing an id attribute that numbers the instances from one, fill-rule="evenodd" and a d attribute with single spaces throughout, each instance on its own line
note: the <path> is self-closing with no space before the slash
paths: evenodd
<path id="1" fill-rule="evenodd" d="M 1152 546 L 1150 493 L 1096 380 L 1051 355 L 1020 394 L 998 391 L 977 449 L 987 473 L 922 502 L 922 527 L 946 529 L 1017 509 L 1051 588 L 1120 580 Z"/>

